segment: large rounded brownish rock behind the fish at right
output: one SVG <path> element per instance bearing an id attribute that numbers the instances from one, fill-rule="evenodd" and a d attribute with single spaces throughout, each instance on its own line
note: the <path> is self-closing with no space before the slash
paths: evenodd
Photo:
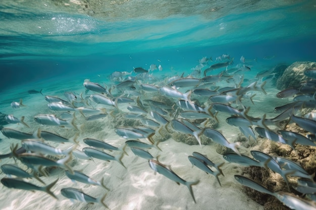
<path id="1" fill-rule="evenodd" d="M 277 81 L 277 89 L 284 90 L 287 88 L 299 88 L 300 82 L 308 80 L 304 75 L 304 71 L 316 65 L 316 62 L 298 61 L 287 67 L 283 75 Z"/>

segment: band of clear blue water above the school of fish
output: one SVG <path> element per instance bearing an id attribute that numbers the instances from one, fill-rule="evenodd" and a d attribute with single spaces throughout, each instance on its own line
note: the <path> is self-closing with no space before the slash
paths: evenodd
<path id="1" fill-rule="evenodd" d="M 133 5 L 128 3 L 126 7 Z M 268 9 L 249 1 L 253 6 L 234 8 L 231 13 L 225 11 L 233 4 L 229 1 L 217 3 L 223 9 L 213 13 L 201 9 L 206 3 L 201 8 L 196 3 L 195 13 L 200 10 L 201 15 L 181 11 L 160 19 L 155 13 L 150 16 L 148 6 L 148 13 L 140 17 L 128 19 L 121 14 L 122 21 L 51 11 L 52 5 L 46 2 L 34 10 L 25 4 L 0 4 L 0 71 L 5 75 L 1 90 L 55 76 L 131 71 L 157 59 L 164 69 L 172 66 L 189 72 L 202 56 L 224 53 L 235 61 L 241 55 L 257 57 L 262 68 L 316 57 L 315 1 L 279 7 L 267 2 Z M 273 55 L 272 60 L 262 59 Z"/>

